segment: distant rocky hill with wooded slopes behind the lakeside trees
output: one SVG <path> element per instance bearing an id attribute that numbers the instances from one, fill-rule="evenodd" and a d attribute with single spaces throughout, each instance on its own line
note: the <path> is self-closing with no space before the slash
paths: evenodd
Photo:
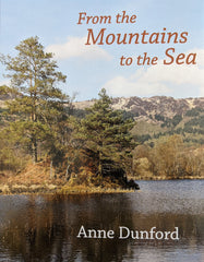
<path id="1" fill-rule="evenodd" d="M 79 114 L 92 106 L 93 100 L 74 103 Z M 204 144 L 204 97 L 176 99 L 167 96 L 113 98 L 112 108 L 134 118 L 135 140 L 153 144 L 158 139 L 180 134 L 190 145 Z"/>

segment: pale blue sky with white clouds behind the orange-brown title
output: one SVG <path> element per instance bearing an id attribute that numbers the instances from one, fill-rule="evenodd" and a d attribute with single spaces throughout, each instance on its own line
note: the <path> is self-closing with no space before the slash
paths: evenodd
<path id="1" fill-rule="evenodd" d="M 105 15 L 110 23 L 97 23 Z M 96 39 L 103 28 L 101 43 L 89 37 L 85 45 L 88 29 Z M 137 43 L 129 44 L 135 33 Z M 168 43 L 169 33 L 178 43 Z M 15 46 L 32 36 L 53 53 L 67 75 L 60 88 L 75 100 L 97 98 L 103 87 L 112 97 L 204 97 L 203 0 L 0 0 L 0 52 L 15 57 Z M 0 85 L 9 84 L 4 73 L 0 64 Z"/>

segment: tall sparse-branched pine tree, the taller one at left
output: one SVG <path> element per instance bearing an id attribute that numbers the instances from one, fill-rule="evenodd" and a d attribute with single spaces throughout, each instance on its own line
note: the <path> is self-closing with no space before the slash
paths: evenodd
<path id="1" fill-rule="evenodd" d="M 26 140 L 33 159 L 38 160 L 38 143 L 56 138 L 56 123 L 65 118 L 63 102 L 69 97 L 57 87 L 65 75 L 57 71 L 52 53 L 45 52 L 38 37 L 31 37 L 15 47 L 17 56 L 1 56 L 16 97 L 9 103 L 10 114 L 15 114 L 13 131 Z M 50 148 L 51 151 L 51 148 Z"/>

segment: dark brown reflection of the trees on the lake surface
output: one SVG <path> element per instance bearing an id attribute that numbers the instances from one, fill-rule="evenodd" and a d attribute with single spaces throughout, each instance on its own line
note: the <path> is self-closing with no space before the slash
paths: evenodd
<path id="1" fill-rule="evenodd" d="M 21 196 L 20 196 L 21 201 Z M 134 203 L 135 205 L 135 203 Z M 1 217 L 1 216 L 0 216 Z M 21 209 L 4 214 L 0 248 L 8 258 L 23 261 L 135 261 L 136 251 L 152 246 L 201 245 L 202 217 L 190 214 L 142 214 L 132 209 L 125 194 L 27 196 Z M 172 230 L 179 227 L 179 242 L 76 238 L 80 227 L 136 230 Z M 20 259 L 19 261 L 22 261 Z"/>

